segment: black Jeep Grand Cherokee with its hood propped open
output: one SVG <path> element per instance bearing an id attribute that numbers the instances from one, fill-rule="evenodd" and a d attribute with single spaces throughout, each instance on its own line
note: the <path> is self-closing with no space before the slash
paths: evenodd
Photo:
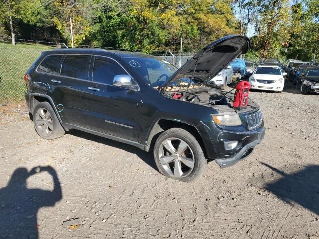
<path id="1" fill-rule="evenodd" d="M 153 148 L 159 171 L 197 179 L 247 157 L 264 138 L 259 106 L 232 107 L 234 95 L 209 80 L 247 51 L 245 36 L 226 36 L 180 69 L 157 57 L 101 49 L 46 51 L 24 76 L 35 130 L 45 139 L 77 129 Z"/>

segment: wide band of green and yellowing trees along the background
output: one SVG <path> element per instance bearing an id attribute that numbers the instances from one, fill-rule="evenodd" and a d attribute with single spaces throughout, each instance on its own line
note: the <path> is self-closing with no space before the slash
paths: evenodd
<path id="1" fill-rule="evenodd" d="M 181 38 L 194 52 L 249 25 L 250 57 L 310 59 L 319 45 L 319 0 L 0 0 L 0 36 L 10 35 L 10 16 L 19 38 L 71 45 L 72 17 L 75 46 L 147 53 L 179 51 Z"/>

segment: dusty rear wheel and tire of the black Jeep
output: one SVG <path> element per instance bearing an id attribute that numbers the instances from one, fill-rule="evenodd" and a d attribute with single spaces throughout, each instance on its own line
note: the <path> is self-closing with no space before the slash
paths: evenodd
<path id="1" fill-rule="evenodd" d="M 44 139 L 56 139 L 65 133 L 52 106 L 48 102 L 37 104 L 33 111 L 35 131 Z"/>

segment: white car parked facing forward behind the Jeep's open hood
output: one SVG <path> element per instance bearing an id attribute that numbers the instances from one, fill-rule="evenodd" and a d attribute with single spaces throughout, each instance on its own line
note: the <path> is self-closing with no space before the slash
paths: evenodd
<path id="1" fill-rule="evenodd" d="M 279 66 L 258 66 L 249 77 L 249 84 L 252 89 L 282 92 L 286 75 Z"/>

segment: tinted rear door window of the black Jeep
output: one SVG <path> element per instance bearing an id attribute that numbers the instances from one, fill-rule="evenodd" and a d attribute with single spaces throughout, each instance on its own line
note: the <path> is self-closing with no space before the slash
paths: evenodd
<path id="1" fill-rule="evenodd" d="M 67 55 L 62 64 L 61 76 L 87 80 L 90 59 L 89 55 Z"/>

